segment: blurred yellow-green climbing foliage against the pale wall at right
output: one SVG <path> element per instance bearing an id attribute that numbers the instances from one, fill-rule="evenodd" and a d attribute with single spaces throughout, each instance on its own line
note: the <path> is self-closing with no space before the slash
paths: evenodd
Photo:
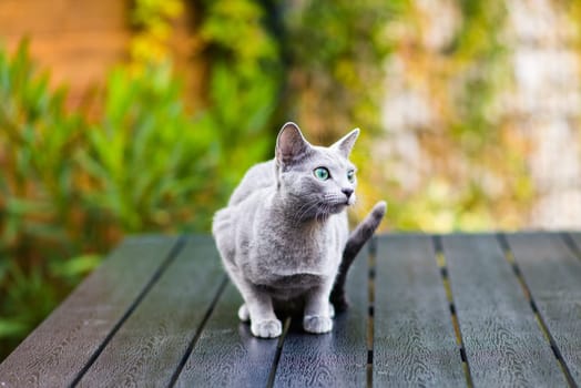
<path id="1" fill-rule="evenodd" d="M 526 146 L 503 106 L 512 76 L 506 1 L 446 2 L 445 23 L 434 20 L 438 12 L 434 3 L 406 1 L 393 29 L 398 44 L 391 63 L 402 70 L 387 93 L 412 95 L 425 106 L 419 116 L 428 118 L 393 131 L 408 131 L 402 149 L 415 154 L 407 161 L 416 165 L 408 172 L 406 162 L 387 157 L 384 176 L 371 181 L 379 188 L 363 188 L 389 193 L 394 228 L 514 228 L 532 187 Z"/>

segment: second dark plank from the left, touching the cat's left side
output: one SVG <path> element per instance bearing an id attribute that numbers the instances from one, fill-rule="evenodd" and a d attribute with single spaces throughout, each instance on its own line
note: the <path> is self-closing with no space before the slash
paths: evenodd
<path id="1" fill-rule="evenodd" d="M 190 237 L 80 386 L 167 386 L 224 276 L 212 237 Z"/>

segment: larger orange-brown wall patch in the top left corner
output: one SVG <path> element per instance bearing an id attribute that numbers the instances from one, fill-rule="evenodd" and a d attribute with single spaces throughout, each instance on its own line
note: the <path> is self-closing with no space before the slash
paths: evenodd
<path id="1" fill-rule="evenodd" d="M 1 0 L 0 41 L 12 51 L 23 37 L 52 84 L 68 84 L 74 105 L 106 71 L 128 58 L 129 0 Z"/>

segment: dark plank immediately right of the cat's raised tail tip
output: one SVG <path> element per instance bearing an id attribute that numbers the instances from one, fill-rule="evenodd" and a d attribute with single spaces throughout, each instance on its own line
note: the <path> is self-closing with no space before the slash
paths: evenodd
<path id="1" fill-rule="evenodd" d="M 374 327 L 374 385 L 466 386 L 430 237 L 379 238 Z"/>

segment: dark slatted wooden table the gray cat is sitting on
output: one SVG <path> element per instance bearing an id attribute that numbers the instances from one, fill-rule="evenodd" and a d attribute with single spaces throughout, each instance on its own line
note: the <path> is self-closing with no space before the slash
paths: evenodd
<path id="1" fill-rule="evenodd" d="M 385 235 L 328 335 L 241 324 L 208 236 L 121 244 L 0 365 L 0 388 L 578 387 L 581 234 Z"/>

